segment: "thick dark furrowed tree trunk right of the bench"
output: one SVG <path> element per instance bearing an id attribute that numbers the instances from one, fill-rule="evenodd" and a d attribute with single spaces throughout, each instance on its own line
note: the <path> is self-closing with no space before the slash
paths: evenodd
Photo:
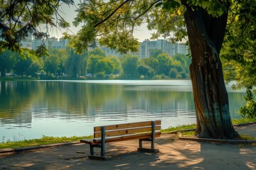
<path id="1" fill-rule="evenodd" d="M 186 5 L 186 1 L 182 3 Z M 227 17 L 228 13 L 224 13 L 213 18 L 203 8 L 190 6 L 184 14 L 192 55 L 190 73 L 198 137 L 233 139 L 239 136 L 231 122 L 219 57 Z"/>

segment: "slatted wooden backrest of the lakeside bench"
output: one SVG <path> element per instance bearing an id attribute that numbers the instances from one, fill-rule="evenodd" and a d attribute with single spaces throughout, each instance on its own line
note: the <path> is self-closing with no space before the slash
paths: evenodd
<path id="1" fill-rule="evenodd" d="M 154 131 L 161 130 L 161 120 L 146 121 L 139 123 L 124 123 L 119 125 L 106 125 L 105 127 L 105 137 L 114 137 L 120 135 L 129 135 L 134 133 L 144 133 L 152 131 L 152 124 L 154 122 Z M 102 126 L 97 126 L 94 128 L 94 137 L 102 136 Z"/>

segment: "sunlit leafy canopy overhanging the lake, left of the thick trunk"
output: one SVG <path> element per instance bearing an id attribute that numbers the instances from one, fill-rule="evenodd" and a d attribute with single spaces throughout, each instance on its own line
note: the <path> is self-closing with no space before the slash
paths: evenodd
<path id="1" fill-rule="evenodd" d="M 84 1 L 78 5 L 78 15 L 74 21 L 75 26 L 82 24 L 75 37 L 75 46 L 87 47 L 98 37 L 102 45 L 122 52 L 134 51 L 137 43 L 133 33 L 144 23 L 147 23 L 149 30 L 155 30 L 151 38 L 161 35 L 169 40 L 182 40 L 187 35 L 183 20 L 186 11 L 184 4 L 195 9 L 204 8 L 218 17 L 228 11 L 230 3 L 232 1 L 229 0 Z"/>

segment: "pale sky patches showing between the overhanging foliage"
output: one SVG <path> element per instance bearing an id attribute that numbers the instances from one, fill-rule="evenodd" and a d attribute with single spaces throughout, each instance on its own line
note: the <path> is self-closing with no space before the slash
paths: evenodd
<path id="1" fill-rule="evenodd" d="M 73 26 L 72 21 L 74 20 L 75 16 L 76 16 L 76 12 L 75 12 L 75 6 L 68 6 L 68 5 L 63 5 L 60 8 L 60 11 L 63 11 L 63 18 L 65 19 L 65 21 L 68 21 L 68 23 L 70 23 L 70 30 L 72 32 L 70 32 L 70 30 L 68 30 L 69 34 L 73 34 L 73 33 L 78 33 L 78 30 L 80 30 L 80 28 L 76 28 L 75 26 Z M 62 32 L 66 32 L 66 30 L 59 30 L 58 28 L 51 28 L 50 29 L 50 36 L 55 37 L 55 38 L 61 38 L 63 36 Z M 145 39 L 150 39 L 151 38 L 151 33 L 153 33 L 153 31 L 150 31 L 146 28 L 146 24 L 142 25 L 141 27 L 137 28 L 137 30 L 134 32 L 134 37 L 137 38 L 139 40 L 139 42 L 142 42 Z M 163 38 L 161 38 L 163 39 Z"/>

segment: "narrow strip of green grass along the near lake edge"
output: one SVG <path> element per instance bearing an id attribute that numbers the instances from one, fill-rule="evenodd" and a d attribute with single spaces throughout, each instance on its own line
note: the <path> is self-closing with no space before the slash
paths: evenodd
<path id="1" fill-rule="evenodd" d="M 240 120 L 233 120 L 233 125 L 238 125 L 242 123 L 252 123 L 256 122 L 256 119 L 240 119 Z M 171 132 L 174 130 L 188 130 L 196 128 L 196 125 L 182 125 L 177 127 L 171 127 L 164 130 L 161 130 L 161 132 Z M 187 133 L 187 134 L 186 134 Z M 192 135 L 193 132 L 184 132 L 183 135 Z M 0 143 L 0 149 L 1 148 L 17 148 L 17 147 L 31 147 L 31 146 L 37 146 L 37 145 L 48 145 L 48 144 L 54 144 L 54 143 L 60 143 L 60 142 L 75 142 L 79 141 L 80 139 L 90 139 L 93 136 L 73 136 L 73 137 L 48 137 L 43 136 L 40 139 L 34 139 L 34 140 L 21 140 L 18 142 L 1 142 Z M 244 137 L 246 140 L 252 140 L 250 137 Z"/>

